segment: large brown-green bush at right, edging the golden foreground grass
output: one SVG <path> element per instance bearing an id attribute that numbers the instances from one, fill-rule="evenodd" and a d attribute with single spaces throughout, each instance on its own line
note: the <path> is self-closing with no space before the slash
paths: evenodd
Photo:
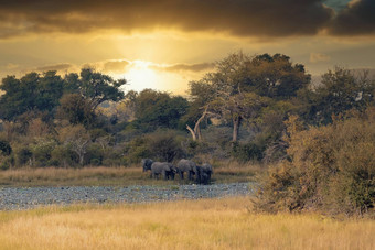
<path id="1" fill-rule="evenodd" d="M 269 171 L 258 208 L 363 214 L 375 205 L 375 108 L 290 134 L 291 161 Z"/>

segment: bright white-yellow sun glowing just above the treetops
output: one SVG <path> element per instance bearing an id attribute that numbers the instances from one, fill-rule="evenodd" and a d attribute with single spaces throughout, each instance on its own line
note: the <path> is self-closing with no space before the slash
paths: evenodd
<path id="1" fill-rule="evenodd" d="M 130 69 L 125 77 L 131 88 L 140 90 L 144 88 L 156 88 L 158 85 L 158 74 L 150 68 L 151 63 L 143 61 L 132 62 Z"/>

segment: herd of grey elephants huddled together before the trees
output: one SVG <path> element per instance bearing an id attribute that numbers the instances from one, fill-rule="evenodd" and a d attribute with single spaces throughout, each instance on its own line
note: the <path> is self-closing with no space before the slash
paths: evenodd
<path id="1" fill-rule="evenodd" d="M 212 166 L 208 163 L 196 165 L 193 161 L 182 159 L 178 162 L 176 166 L 169 162 L 153 162 L 150 159 L 142 159 L 141 161 L 143 172 L 151 171 L 151 176 L 159 178 L 161 175 L 164 180 L 174 180 L 174 175 L 180 175 L 184 178 L 184 173 L 188 174 L 189 181 L 195 181 L 199 184 L 208 184 L 211 175 L 213 174 Z"/>

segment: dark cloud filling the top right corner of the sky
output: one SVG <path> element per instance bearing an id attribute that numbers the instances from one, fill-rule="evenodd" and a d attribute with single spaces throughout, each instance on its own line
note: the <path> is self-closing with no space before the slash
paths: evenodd
<path id="1" fill-rule="evenodd" d="M 355 1 L 339 12 L 329 29 L 334 35 L 375 34 L 375 0 Z"/>

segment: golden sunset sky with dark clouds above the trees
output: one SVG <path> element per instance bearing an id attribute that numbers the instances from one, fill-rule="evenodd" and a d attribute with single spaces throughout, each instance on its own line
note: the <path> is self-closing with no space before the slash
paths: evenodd
<path id="1" fill-rule="evenodd" d="M 0 0 L 0 77 L 94 67 L 184 95 L 231 53 L 375 68 L 375 0 Z"/>

